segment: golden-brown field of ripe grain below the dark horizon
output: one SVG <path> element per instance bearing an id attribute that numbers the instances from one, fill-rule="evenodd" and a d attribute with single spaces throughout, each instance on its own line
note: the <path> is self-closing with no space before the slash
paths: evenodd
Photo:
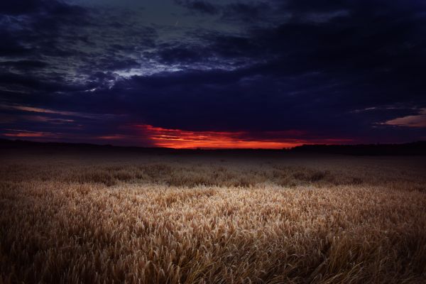
<path id="1" fill-rule="evenodd" d="M 424 157 L 0 154 L 0 283 L 426 283 Z"/>

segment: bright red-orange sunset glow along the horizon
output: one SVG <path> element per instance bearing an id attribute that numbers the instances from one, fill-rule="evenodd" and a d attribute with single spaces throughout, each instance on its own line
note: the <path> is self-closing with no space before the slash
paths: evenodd
<path id="1" fill-rule="evenodd" d="M 303 131 L 186 131 L 182 129 L 165 129 L 148 124 L 124 126 L 126 134 L 111 133 L 105 136 L 68 136 L 66 133 L 27 131 L 8 129 L 2 136 L 8 138 L 29 138 L 33 141 L 58 141 L 58 139 L 76 138 L 81 141 L 109 141 L 121 146 L 150 146 L 177 149 L 282 149 L 293 148 L 303 144 L 351 143 L 344 138 L 312 138 Z M 307 138 L 305 138 L 307 137 Z"/>

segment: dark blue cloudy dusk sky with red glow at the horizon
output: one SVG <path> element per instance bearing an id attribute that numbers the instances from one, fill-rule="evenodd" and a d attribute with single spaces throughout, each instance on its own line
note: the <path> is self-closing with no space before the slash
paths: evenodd
<path id="1" fill-rule="evenodd" d="M 0 1 L 0 138 L 426 140 L 426 1 Z"/>

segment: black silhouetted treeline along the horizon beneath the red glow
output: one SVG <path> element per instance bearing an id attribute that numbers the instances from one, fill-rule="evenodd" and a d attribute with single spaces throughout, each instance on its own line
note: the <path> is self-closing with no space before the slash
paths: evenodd
<path id="1" fill-rule="evenodd" d="M 22 149 L 28 151 L 48 151 L 51 153 L 72 153 L 72 152 L 141 152 L 158 154 L 195 154 L 195 153 L 324 153 L 338 155 L 426 155 L 426 141 L 401 144 L 361 144 L 361 145 L 302 145 L 295 148 L 286 149 L 175 149 L 175 148 L 148 148 L 136 146 L 111 146 L 97 145 L 90 143 L 64 143 L 64 142 L 34 142 L 23 140 L 9 140 L 0 138 L 0 148 Z"/>

